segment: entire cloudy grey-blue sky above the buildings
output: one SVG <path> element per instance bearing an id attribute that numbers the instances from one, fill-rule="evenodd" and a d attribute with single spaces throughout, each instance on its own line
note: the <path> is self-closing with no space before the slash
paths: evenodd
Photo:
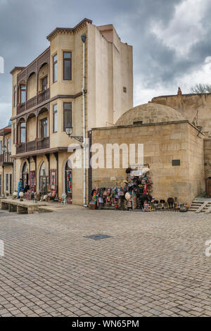
<path id="1" fill-rule="evenodd" d="M 134 106 L 153 96 L 176 94 L 180 86 L 211 83 L 210 0 L 0 0 L 0 127 L 11 117 L 11 75 L 47 46 L 55 27 L 83 18 L 113 23 L 134 46 Z M 1 70 L 1 68 L 0 68 Z"/>

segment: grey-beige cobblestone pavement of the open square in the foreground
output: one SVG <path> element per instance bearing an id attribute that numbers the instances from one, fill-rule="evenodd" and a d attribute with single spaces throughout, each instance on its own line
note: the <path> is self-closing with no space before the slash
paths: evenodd
<path id="1" fill-rule="evenodd" d="M 0 316 L 211 316 L 211 216 L 0 211 Z M 102 240 L 84 236 L 110 235 Z"/>

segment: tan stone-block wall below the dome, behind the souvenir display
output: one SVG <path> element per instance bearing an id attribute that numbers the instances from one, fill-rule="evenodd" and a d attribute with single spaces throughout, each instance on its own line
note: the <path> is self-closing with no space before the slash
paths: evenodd
<path id="1" fill-rule="evenodd" d="M 156 199 L 176 197 L 188 202 L 204 192 L 203 139 L 187 121 L 155 125 L 108 127 L 92 131 L 92 143 L 144 144 L 144 163 L 148 163 Z M 194 151 L 197 151 L 195 153 Z M 172 160 L 180 160 L 173 166 Z M 125 169 L 93 169 L 93 187 L 124 186 Z"/>

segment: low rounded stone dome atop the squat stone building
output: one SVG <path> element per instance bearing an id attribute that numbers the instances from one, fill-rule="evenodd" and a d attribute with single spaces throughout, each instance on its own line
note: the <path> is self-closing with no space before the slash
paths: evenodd
<path id="1" fill-rule="evenodd" d="M 177 120 L 184 120 L 184 117 L 178 111 L 161 104 L 150 102 L 129 109 L 129 111 L 126 111 L 126 113 L 117 120 L 115 125 L 162 123 Z"/>

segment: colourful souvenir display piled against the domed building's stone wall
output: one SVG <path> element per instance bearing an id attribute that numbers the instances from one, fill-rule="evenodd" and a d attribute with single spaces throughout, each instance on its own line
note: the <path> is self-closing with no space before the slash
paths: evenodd
<path id="1" fill-rule="evenodd" d="M 115 208 L 125 211 L 188 211 L 188 204 L 180 204 L 177 198 L 167 201 L 151 196 L 153 182 L 149 165 L 132 170 L 127 168 L 122 187 L 95 187 L 91 193 L 91 209 Z"/>

